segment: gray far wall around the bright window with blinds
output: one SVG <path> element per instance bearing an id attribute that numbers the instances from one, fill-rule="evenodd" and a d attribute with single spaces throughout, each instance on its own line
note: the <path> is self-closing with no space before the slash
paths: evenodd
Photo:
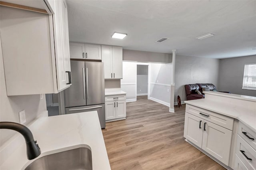
<path id="1" fill-rule="evenodd" d="M 256 63 L 256 55 L 220 59 L 219 91 L 256 97 L 256 90 L 242 89 L 244 65 Z"/>

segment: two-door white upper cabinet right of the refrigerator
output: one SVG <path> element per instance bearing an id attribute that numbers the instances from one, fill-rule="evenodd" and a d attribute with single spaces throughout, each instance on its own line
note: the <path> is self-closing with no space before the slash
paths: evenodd
<path id="1" fill-rule="evenodd" d="M 122 47 L 101 45 L 102 62 L 104 63 L 105 79 L 123 78 Z"/>

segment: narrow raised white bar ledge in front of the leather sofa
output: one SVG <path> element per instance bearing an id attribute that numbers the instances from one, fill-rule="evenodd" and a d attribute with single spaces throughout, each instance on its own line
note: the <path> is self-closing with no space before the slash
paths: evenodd
<path id="1" fill-rule="evenodd" d="M 216 95 L 216 96 L 222 96 L 222 97 L 229 97 L 229 98 L 234 98 L 234 99 L 240 99 L 240 100 L 255 101 L 256 102 L 256 97 L 253 97 L 253 96 L 236 95 L 236 94 L 223 93 L 223 92 L 218 92 L 218 91 L 204 91 L 203 93 L 210 94 L 210 95 Z"/>

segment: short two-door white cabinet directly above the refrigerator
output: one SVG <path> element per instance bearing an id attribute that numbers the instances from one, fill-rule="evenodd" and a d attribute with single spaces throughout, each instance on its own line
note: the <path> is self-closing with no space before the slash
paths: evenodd
<path id="1" fill-rule="evenodd" d="M 101 46 L 96 44 L 70 43 L 70 58 L 101 60 Z"/>

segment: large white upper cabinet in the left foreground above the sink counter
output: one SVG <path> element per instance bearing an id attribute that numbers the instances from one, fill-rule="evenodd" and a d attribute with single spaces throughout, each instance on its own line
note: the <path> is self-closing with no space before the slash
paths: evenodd
<path id="1" fill-rule="evenodd" d="M 71 73 L 66 2 L 55 0 L 54 14 L 0 8 L 7 95 L 58 93 L 68 88 Z"/>

